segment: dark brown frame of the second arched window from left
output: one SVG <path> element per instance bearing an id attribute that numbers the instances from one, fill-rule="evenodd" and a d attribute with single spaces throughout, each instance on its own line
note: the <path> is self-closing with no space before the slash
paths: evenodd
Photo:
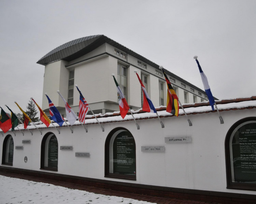
<path id="1" fill-rule="evenodd" d="M 57 165 L 57 168 L 53 168 L 53 167 L 45 167 L 45 144 L 47 142 L 47 139 L 52 136 L 55 136 L 56 135 L 52 132 L 47 132 L 45 134 L 45 136 L 43 137 L 42 139 L 42 142 L 41 142 L 41 158 L 40 158 L 40 169 L 43 169 L 43 170 L 48 170 L 48 171 L 54 171 L 54 172 L 57 172 L 58 171 L 58 165 Z M 50 140 L 49 138 L 49 140 Z M 56 137 L 57 139 L 57 137 Z M 58 139 L 57 139 L 57 143 L 58 143 Z M 58 143 L 58 162 L 59 162 L 59 143 Z"/>

